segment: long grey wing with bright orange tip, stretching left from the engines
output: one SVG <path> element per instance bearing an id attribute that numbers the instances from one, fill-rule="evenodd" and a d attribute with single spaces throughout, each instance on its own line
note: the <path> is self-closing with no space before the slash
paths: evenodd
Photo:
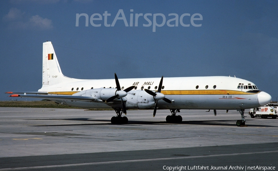
<path id="1" fill-rule="evenodd" d="M 27 92 L 26 92 L 27 93 Z M 49 100 L 73 100 L 73 101 L 83 101 L 90 102 L 95 100 L 91 96 L 72 96 L 72 95 L 41 95 L 41 94 L 13 94 L 10 97 L 30 97 L 39 99 L 49 99 Z"/>

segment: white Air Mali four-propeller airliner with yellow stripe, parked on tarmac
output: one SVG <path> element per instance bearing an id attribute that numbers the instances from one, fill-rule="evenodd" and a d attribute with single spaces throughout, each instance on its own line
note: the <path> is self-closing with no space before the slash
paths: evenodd
<path id="1" fill-rule="evenodd" d="M 237 110 L 245 125 L 244 109 L 268 104 L 271 96 L 247 80 L 227 76 L 74 79 L 62 74 L 51 42 L 43 43 L 42 88 L 38 92 L 7 92 L 12 97 L 49 99 L 82 108 L 113 108 L 112 124 L 126 124 L 126 109 L 170 109 L 167 122 L 181 122 L 180 109 Z"/>

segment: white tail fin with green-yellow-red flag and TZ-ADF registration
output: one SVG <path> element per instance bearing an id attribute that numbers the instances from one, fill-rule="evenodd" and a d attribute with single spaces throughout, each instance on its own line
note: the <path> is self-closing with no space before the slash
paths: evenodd
<path id="1" fill-rule="evenodd" d="M 44 42 L 42 88 L 62 82 L 68 82 L 70 80 L 71 78 L 62 74 L 52 43 Z"/>

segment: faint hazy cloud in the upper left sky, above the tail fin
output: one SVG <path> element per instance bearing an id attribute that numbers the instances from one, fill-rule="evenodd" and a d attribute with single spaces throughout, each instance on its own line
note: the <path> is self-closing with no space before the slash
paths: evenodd
<path id="1" fill-rule="evenodd" d="M 9 13 L 3 17 L 3 21 L 8 23 L 9 29 L 40 29 L 48 30 L 53 28 L 52 20 L 48 18 L 42 18 L 39 15 L 27 17 L 25 12 L 17 8 L 11 8 Z"/>

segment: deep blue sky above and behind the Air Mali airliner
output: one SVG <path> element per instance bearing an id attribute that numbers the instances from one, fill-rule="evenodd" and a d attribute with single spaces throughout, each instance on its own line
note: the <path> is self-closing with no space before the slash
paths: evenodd
<path id="1" fill-rule="evenodd" d="M 278 98 L 277 1 L 0 1 L 0 100 L 7 91 L 37 91 L 42 43 L 51 41 L 64 75 L 79 79 L 236 76 Z M 103 14 L 107 11 L 105 26 Z M 133 10 L 133 12 L 131 12 Z M 85 17 L 89 16 L 88 26 Z M 148 14 L 151 25 L 136 14 Z M 90 17 L 96 14 L 102 20 Z M 130 24 L 133 14 L 133 26 Z M 162 15 L 165 16 L 163 25 Z M 167 25 L 177 14 L 178 25 Z M 182 14 L 182 26 L 180 17 Z M 193 20 L 200 14 L 202 20 Z M 195 16 L 194 18 L 200 18 Z M 174 25 L 175 20 L 169 24 Z M 201 24 L 201 26 L 200 26 Z M 20 99 L 18 99 L 20 100 Z M 22 100 L 22 99 L 21 99 Z"/>

